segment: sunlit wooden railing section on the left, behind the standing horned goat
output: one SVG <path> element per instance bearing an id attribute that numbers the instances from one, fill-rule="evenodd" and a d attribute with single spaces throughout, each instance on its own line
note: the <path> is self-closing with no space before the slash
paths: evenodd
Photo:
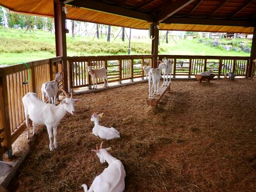
<path id="1" fill-rule="evenodd" d="M 0 159 L 6 150 L 12 156 L 12 143 L 26 128 L 22 97 L 35 92 L 42 99 L 42 83 L 55 78 L 61 63 L 62 58 L 52 58 L 0 68 Z"/>

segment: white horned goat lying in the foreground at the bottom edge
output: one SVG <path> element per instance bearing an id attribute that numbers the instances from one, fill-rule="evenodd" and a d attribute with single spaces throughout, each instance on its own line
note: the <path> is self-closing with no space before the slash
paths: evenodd
<path id="1" fill-rule="evenodd" d="M 125 170 L 122 162 L 108 153 L 111 148 L 93 149 L 92 151 L 97 154 L 100 159 L 100 163 L 107 161 L 108 167 L 104 171 L 95 177 L 92 182 L 92 186 L 88 190 L 86 184 L 83 184 L 84 192 L 122 192 L 125 189 Z"/>

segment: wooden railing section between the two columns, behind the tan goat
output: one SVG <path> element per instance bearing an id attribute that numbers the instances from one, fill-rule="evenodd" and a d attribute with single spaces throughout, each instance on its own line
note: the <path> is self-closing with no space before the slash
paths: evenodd
<path id="1" fill-rule="evenodd" d="M 90 56 L 90 57 L 69 57 L 69 83 L 70 88 L 90 86 L 91 77 L 86 67 L 105 67 L 108 70 L 108 81 L 119 82 L 126 79 L 143 78 L 143 64 L 152 67 L 152 55 L 133 56 Z M 99 80 L 99 84 L 103 80 Z"/>

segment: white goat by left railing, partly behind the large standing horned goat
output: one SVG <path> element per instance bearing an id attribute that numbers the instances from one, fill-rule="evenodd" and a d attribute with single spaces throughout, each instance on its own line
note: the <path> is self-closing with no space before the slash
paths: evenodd
<path id="1" fill-rule="evenodd" d="M 56 97 L 58 93 L 59 82 L 63 79 L 62 72 L 58 72 L 55 75 L 54 81 L 45 82 L 42 84 L 42 99 L 45 102 L 45 98 L 48 97 L 48 102 L 56 105 Z"/>

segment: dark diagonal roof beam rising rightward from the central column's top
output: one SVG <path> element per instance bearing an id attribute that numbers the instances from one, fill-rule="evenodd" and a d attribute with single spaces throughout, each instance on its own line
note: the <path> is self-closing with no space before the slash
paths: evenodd
<path id="1" fill-rule="evenodd" d="M 168 19 L 168 17 L 172 16 L 173 14 L 179 12 L 182 8 L 187 6 L 188 4 L 192 3 L 195 0 L 179 0 L 175 1 L 174 3 L 168 3 L 163 10 L 160 10 L 156 14 L 156 22 L 163 22 L 163 20 Z"/>

